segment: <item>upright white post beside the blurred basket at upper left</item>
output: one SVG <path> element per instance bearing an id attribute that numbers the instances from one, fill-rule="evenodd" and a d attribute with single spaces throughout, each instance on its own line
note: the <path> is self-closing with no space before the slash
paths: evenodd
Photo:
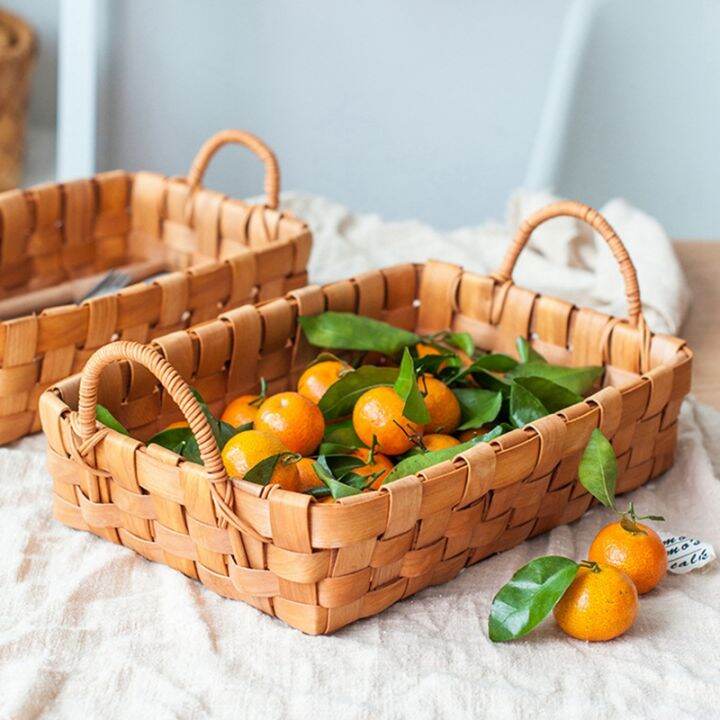
<path id="1" fill-rule="evenodd" d="M 60 0 L 58 180 L 95 172 L 98 52 L 97 0 Z"/>

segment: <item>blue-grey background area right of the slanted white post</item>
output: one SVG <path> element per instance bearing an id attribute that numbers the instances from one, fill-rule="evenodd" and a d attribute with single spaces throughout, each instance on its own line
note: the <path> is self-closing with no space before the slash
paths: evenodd
<path id="1" fill-rule="evenodd" d="M 720 2 L 600 5 L 558 190 L 623 196 L 674 237 L 720 240 Z"/>

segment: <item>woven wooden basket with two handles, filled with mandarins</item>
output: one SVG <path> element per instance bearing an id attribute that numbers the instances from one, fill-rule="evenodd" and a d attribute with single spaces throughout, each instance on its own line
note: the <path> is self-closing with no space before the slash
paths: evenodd
<path id="1" fill-rule="evenodd" d="M 629 321 L 512 284 L 533 228 L 562 214 L 586 220 L 612 246 Z M 185 381 L 216 409 L 256 389 L 261 376 L 271 392 L 293 387 L 317 352 L 300 335 L 297 317 L 326 309 L 424 333 L 467 331 L 480 347 L 505 352 L 514 352 L 522 335 L 552 362 L 603 364 L 604 387 L 419 476 L 334 504 L 229 481 Z M 146 381 L 136 364 L 117 362 L 123 358 L 160 382 Z M 114 344 L 98 351 L 82 378 L 41 398 L 54 512 L 71 527 L 171 565 L 304 632 L 330 633 L 579 518 L 592 504 L 577 467 L 593 428 L 612 440 L 619 492 L 670 467 L 691 358 L 682 340 L 647 330 L 635 270 L 610 226 L 586 206 L 559 203 L 522 226 L 492 277 L 438 262 L 399 265 L 238 308 L 158 338 L 154 349 Z M 96 424 L 98 397 L 139 439 Z M 204 467 L 142 442 L 180 412 L 199 438 Z"/>

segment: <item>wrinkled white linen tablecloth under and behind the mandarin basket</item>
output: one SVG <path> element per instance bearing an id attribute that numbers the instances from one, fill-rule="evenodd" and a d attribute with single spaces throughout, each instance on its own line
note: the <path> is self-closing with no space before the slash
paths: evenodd
<path id="1" fill-rule="evenodd" d="M 519 194 L 507 227 L 445 235 L 321 198 L 290 196 L 286 206 L 313 225 L 312 274 L 326 280 L 427 257 L 490 270 L 509 229 L 543 200 Z M 623 201 L 605 209 L 638 265 L 651 325 L 675 330 L 688 294 L 667 237 Z M 575 221 L 547 226 L 533 244 L 519 284 L 624 313 L 617 269 Z M 719 426 L 720 413 L 688 401 L 674 468 L 631 496 L 665 515 L 667 529 L 716 547 Z M 0 449 L 0 718 L 717 716 L 716 565 L 668 576 L 641 599 L 632 630 L 610 643 L 571 640 L 551 619 L 521 641 L 488 640 L 500 585 L 539 555 L 582 558 L 608 511 L 594 509 L 333 636 L 309 637 L 54 521 L 43 447 L 36 436 Z"/>

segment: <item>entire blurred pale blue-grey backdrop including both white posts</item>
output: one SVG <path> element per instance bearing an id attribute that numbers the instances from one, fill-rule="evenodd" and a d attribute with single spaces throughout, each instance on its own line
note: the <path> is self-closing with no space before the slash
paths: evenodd
<path id="1" fill-rule="evenodd" d="M 34 28 L 22 184 L 184 174 L 224 127 L 283 187 L 438 228 L 512 190 L 617 196 L 720 238 L 717 0 L 10 0 Z M 261 187 L 249 155 L 207 184 Z"/>

